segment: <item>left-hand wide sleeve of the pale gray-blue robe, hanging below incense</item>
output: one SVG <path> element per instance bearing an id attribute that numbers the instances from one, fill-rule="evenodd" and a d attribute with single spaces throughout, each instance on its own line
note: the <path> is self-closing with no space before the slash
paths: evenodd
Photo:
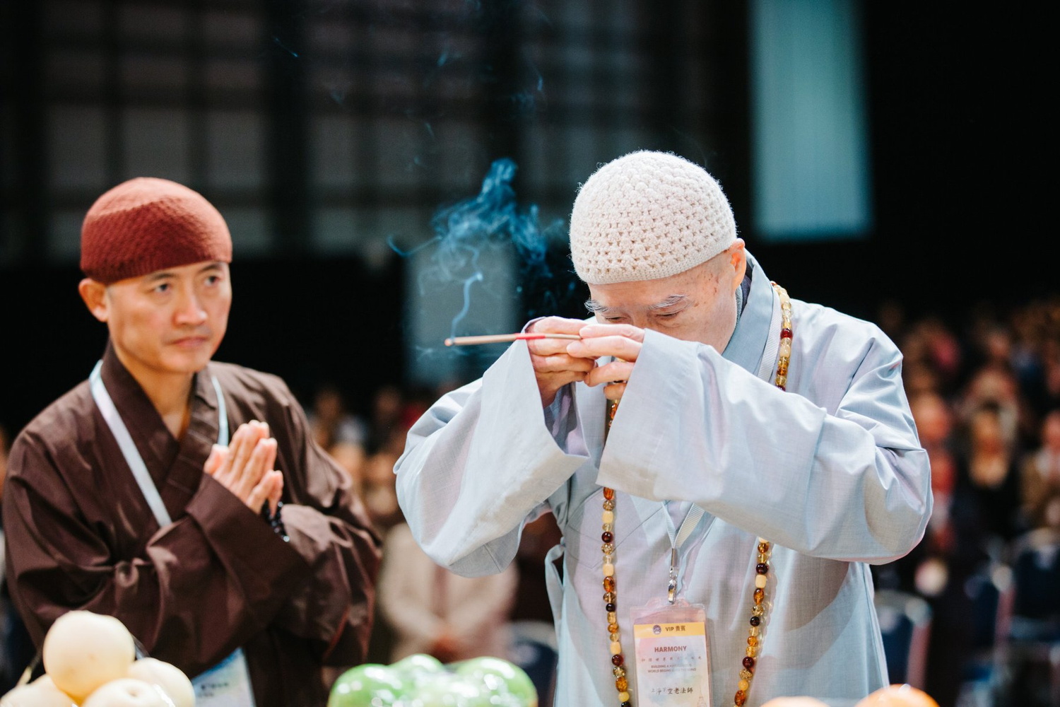
<path id="1" fill-rule="evenodd" d="M 546 427 L 530 354 L 518 341 L 409 429 L 394 465 L 398 500 L 435 562 L 465 577 L 491 575 L 515 558 L 523 524 L 587 463 L 561 449 Z M 551 499 L 558 515 L 562 502 Z"/>

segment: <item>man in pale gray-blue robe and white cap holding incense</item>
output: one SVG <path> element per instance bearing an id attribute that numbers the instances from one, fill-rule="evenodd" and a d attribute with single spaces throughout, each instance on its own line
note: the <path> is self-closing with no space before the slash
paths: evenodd
<path id="1" fill-rule="evenodd" d="M 852 704 L 886 685 L 868 564 L 907 553 L 932 508 L 898 349 L 772 284 L 719 184 L 674 155 L 591 175 L 570 248 L 596 321 L 528 331 L 580 340 L 513 343 L 409 431 L 395 473 L 419 543 L 496 572 L 555 515 L 560 706 Z M 671 599 L 702 605 L 689 682 L 637 649 L 633 612 Z"/>

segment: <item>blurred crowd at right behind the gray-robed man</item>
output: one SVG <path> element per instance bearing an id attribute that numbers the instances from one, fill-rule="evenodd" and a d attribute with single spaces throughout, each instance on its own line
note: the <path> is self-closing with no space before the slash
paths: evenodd
<path id="1" fill-rule="evenodd" d="M 984 306 L 964 322 L 880 324 L 932 466 L 935 510 L 920 551 L 997 556 L 1017 535 L 1060 527 L 1060 300 Z"/>

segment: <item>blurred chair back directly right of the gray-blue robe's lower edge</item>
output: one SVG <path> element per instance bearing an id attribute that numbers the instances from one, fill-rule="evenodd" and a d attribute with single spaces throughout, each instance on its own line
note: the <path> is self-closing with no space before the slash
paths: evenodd
<path id="1" fill-rule="evenodd" d="M 922 690 L 931 636 L 931 606 L 920 597 L 898 589 L 878 589 L 873 602 L 890 682 L 906 683 Z"/>

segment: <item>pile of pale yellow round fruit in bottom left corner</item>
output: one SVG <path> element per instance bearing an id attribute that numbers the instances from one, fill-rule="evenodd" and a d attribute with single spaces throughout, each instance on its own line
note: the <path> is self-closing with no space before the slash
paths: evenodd
<path id="1" fill-rule="evenodd" d="M 45 674 L 0 707 L 194 707 L 195 690 L 174 665 L 136 657 L 125 624 L 92 612 L 64 614 L 45 636 Z"/>

